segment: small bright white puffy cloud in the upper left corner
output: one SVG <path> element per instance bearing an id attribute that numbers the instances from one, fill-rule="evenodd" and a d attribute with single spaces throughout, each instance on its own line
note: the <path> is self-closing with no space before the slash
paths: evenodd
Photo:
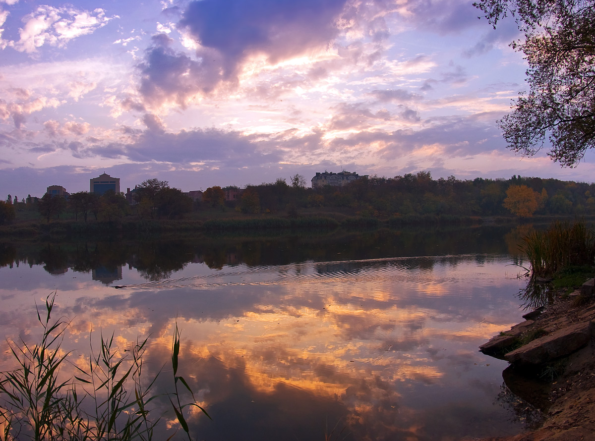
<path id="1" fill-rule="evenodd" d="M 40 5 L 23 17 L 24 26 L 19 29 L 20 39 L 8 45 L 27 53 L 36 52 L 46 44 L 62 48 L 70 40 L 105 26 L 111 19 L 101 8 L 84 11 L 74 7 Z"/>

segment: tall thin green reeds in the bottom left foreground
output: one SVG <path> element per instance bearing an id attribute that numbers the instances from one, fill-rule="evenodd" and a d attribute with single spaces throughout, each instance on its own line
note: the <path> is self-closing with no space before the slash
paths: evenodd
<path id="1" fill-rule="evenodd" d="M 25 342 L 10 344 L 18 368 L 0 374 L 0 440 L 153 439 L 163 415 L 154 403 L 160 395 L 153 391 L 161 371 L 148 383 L 142 378 L 147 339 L 137 342 L 131 355 L 118 358 L 112 347 L 114 336 L 102 336 L 99 353 L 91 348 L 89 365 L 70 364 L 76 374 L 62 379 L 61 369 L 69 363 L 69 353 L 61 349 L 68 322 L 51 320 L 54 300 L 55 292 L 46 298 L 43 314 L 37 309 L 43 327 L 40 342 L 33 347 Z M 176 325 L 171 349 L 175 390 L 167 398 L 190 440 L 184 408 L 206 411 L 196 404 L 186 380 L 177 376 L 179 353 Z M 192 394 L 192 402 L 181 404 L 179 385 Z"/>

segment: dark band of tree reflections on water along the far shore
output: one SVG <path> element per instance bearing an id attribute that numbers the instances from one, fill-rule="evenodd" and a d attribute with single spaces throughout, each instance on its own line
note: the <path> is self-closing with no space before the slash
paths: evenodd
<path id="1" fill-rule="evenodd" d="M 332 234 L 293 234 L 275 237 L 190 237 L 184 240 L 152 238 L 126 241 L 121 238 L 98 238 L 95 241 L 62 241 L 49 244 L 18 244 L 16 252 L 9 245 L 0 248 L 0 262 L 42 263 L 48 272 L 60 273 L 71 268 L 90 272 L 101 268 L 117 272 L 128 263 L 151 281 L 169 278 L 189 262 L 205 262 L 221 269 L 225 265 L 245 263 L 248 266 L 283 265 L 313 262 L 346 262 L 386 259 L 387 257 L 444 256 L 441 259 L 458 264 L 460 254 L 503 254 L 502 240 L 510 228 L 452 229 L 378 229 L 376 231 Z M 483 258 L 477 258 L 482 264 Z M 412 269 L 431 270 L 436 259 L 416 259 Z M 324 269 L 322 272 L 342 270 Z M 345 269 L 343 269 L 345 270 Z M 349 270 L 357 270 L 349 267 Z"/>

